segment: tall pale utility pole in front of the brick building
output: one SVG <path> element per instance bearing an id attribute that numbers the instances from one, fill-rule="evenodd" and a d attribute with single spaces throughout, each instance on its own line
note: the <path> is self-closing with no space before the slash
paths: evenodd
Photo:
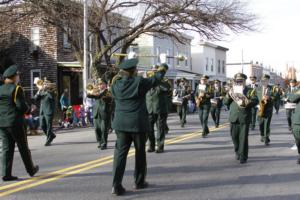
<path id="1" fill-rule="evenodd" d="M 83 95 L 82 100 L 86 98 L 86 86 L 88 80 L 88 0 L 83 0 L 83 69 L 82 69 L 82 80 L 83 80 Z M 84 103 L 84 102 L 83 102 Z"/>

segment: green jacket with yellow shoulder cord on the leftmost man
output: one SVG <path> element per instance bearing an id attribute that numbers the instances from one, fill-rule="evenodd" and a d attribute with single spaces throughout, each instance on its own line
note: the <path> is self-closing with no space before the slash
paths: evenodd
<path id="1" fill-rule="evenodd" d="M 24 124 L 24 114 L 29 111 L 24 92 L 15 84 L 0 86 L 0 127 L 20 126 Z"/>

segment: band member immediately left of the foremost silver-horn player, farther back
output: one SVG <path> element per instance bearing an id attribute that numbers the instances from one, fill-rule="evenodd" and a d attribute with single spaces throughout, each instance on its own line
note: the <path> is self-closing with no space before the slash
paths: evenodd
<path id="1" fill-rule="evenodd" d="M 221 115 L 221 108 L 223 97 L 225 96 L 225 90 L 221 86 L 221 81 L 215 80 L 214 87 L 213 87 L 213 98 L 211 99 L 211 116 L 215 122 L 216 128 L 219 127 L 220 124 L 220 115 Z"/>

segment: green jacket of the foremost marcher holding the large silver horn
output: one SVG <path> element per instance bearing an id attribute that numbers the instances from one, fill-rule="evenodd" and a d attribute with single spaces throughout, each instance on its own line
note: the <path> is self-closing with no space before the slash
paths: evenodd
<path id="1" fill-rule="evenodd" d="M 244 89 L 244 95 L 249 99 L 249 103 L 245 108 L 240 108 L 228 94 L 224 98 L 224 104 L 230 106 L 229 121 L 231 123 L 246 124 L 251 121 L 251 108 L 258 104 L 258 98 L 253 89 L 249 87 Z"/>

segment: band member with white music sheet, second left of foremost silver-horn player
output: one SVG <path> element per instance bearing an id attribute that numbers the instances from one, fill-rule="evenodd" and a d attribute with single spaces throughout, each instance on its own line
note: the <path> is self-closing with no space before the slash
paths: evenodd
<path id="1" fill-rule="evenodd" d="M 207 126 L 209 111 L 211 107 L 210 99 L 213 97 L 211 86 L 208 84 L 209 77 L 204 75 L 195 92 L 196 106 L 199 112 L 199 119 L 202 126 L 202 137 L 209 134 Z"/>

